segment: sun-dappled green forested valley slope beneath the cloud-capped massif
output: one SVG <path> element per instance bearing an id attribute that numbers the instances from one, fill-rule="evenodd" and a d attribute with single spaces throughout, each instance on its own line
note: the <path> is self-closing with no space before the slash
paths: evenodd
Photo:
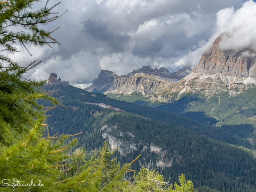
<path id="1" fill-rule="evenodd" d="M 139 105 L 178 113 L 203 124 L 215 125 L 221 130 L 246 138 L 256 145 L 256 88 L 251 86 L 238 95 L 228 93 L 204 95 L 198 92 L 183 93 L 171 103 L 148 101 L 140 93 L 111 94 L 108 97 Z"/>

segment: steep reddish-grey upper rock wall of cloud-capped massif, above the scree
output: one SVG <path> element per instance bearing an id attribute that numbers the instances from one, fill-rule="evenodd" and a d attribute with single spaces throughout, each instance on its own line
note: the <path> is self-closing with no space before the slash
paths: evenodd
<path id="1" fill-rule="evenodd" d="M 236 76 L 244 78 L 256 78 L 256 52 L 255 50 L 221 50 L 219 42 L 220 35 L 215 41 L 210 51 L 202 54 L 198 65 L 194 67 L 194 73 L 215 74 L 221 73 L 226 76 Z"/>

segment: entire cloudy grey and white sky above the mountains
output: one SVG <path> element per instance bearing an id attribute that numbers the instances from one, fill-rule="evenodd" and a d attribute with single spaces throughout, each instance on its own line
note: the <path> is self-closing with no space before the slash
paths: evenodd
<path id="1" fill-rule="evenodd" d="M 49 6 L 58 2 L 50 0 Z M 223 49 L 256 45 L 252 0 L 62 0 L 54 8 L 60 14 L 66 10 L 44 26 L 49 31 L 60 27 L 52 37 L 61 45 L 27 46 L 32 56 L 17 45 L 21 51 L 11 57 L 22 66 L 42 60 L 28 78 L 48 79 L 53 72 L 85 88 L 101 70 L 125 75 L 144 65 L 172 72 L 197 65 L 223 32 Z"/>

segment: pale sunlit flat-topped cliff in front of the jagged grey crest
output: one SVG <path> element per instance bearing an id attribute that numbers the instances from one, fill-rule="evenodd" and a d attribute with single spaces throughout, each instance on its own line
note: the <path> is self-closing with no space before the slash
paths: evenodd
<path id="1" fill-rule="evenodd" d="M 148 96 L 168 87 L 170 82 L 144 73 L 136 73 L 135 75 L 126 75 L 115 78 L 110 88 L 105 93 L 124 93 L 130 94 L 140 92 L 144 96 Z"/>

